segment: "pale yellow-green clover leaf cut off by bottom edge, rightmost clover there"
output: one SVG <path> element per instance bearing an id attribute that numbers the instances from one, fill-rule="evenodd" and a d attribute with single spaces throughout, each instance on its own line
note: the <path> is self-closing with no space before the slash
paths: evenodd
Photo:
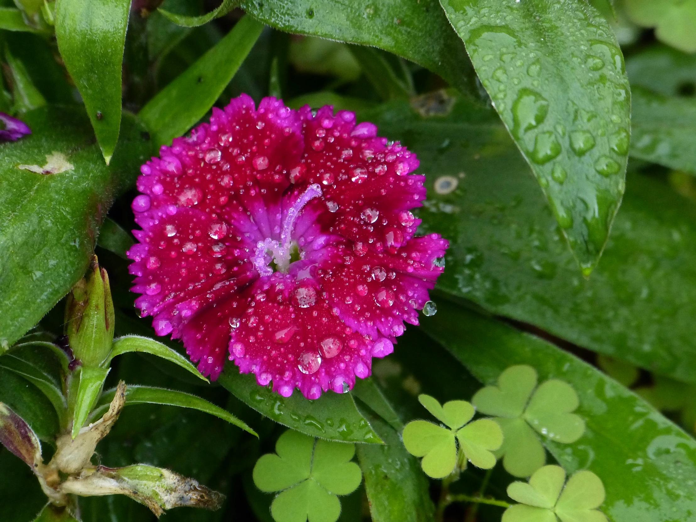
<path id="1" fill-rule="evenodd" d="M 607 522 L 596 508 L 604 502 L 604 485 L 592 471 L 578 471 L 565 482 L 560 466 L 543 466 L 529 482 L 513 482 L 507 495 L 519 502 L 505 509 L 503 522 Z"/>

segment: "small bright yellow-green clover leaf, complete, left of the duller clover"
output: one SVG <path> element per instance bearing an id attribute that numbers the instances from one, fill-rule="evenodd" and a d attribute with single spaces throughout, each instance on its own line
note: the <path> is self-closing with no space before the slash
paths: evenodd
<path id="1" fill-rule="evenodd" d="M 490 419 L 469 422 L 475 410 L 466 401 L 445 402 L 442 406 L 430 395 L 419 395 L 420 404 L 448 427 L 438 426 L 427 420 L 414 420 L 404 427 L 404 446 L 409 453 L 423 457 L 420 466 L 426 475 L 443 478 L 450 475 L 459 463 L 466 468 L 466 461 L 477 468 L 489 469 L 496 465 L 491 450 L 503 443 L 503 432 Z M 457 458 L 459 441 L 459 458 Z"/>

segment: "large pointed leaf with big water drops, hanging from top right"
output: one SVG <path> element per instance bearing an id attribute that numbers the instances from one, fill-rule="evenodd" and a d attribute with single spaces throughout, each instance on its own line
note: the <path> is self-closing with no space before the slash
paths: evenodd
<path id="1" fill-rule="evenodd" d="M 580 0 L 441 4 L 589 275 L 624 193 L 631 128 L 611 26 Z"/>

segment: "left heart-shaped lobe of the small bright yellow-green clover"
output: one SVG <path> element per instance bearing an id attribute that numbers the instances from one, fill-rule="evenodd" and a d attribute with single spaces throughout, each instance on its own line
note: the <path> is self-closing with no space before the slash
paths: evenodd
<path id="1" fill-rule="evenodd" d="M 404 428 L 402 438 L 406 451 L 423 457 L 420 466 L 429 477 L 444 478 L 457 465 L 454 433 L 447 428 L 427 420 L 413 420 Z"/>

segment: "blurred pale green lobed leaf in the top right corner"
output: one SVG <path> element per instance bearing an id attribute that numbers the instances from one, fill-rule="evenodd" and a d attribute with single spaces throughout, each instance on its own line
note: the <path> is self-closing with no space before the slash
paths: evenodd
<path id="1" fill-rule="evenodd" d="M 626 0 L 626 12 L 636 24 L 654 27 L 661 42 L 683 52 L 696 51 L 696 1 Z"/>

